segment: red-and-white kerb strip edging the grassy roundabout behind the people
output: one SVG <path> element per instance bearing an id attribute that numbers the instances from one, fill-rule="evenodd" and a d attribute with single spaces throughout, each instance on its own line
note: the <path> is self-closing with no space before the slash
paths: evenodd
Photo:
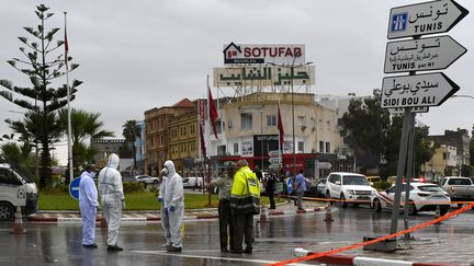
<path id="1" fill-rule="evenodd" d="M 275 210 L 269 210 L 266 206 L 264 211 L 269 217 L 272 216 L 291 216 L 304 215 L 315 211 L 324 210 L 325 205 L 321 203 L 304 201 L 304 210 L 296 210 L 293 203 L 284 203 L 276 205 Z M 200 219 L 217 219 L 218 213 L 216 208 L 210 209 L 195 209 L 184 212 L 184 220 L 200 220 Z M 256 216 L 258 219 L 259 216 Z M 97 221 L 102 219 L 102 212 L 98 213 Z M 37 223 L 81 223 L 79 211 L 54 211 L 54 210 L 40 210 L 38 212 L 27 217 L 30 222 Z M 122 222 L 156 222 L 161 220 L 160 211 L 158 210 L 137 210 L 137 211 L 123 211 Z"/>

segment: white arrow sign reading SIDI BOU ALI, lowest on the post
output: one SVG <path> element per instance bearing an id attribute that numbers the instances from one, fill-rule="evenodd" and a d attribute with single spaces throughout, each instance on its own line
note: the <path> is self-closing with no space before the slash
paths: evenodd
<path id="1" fill-rule="evenodd" d="M 441 72 L 387 77 L 382 83 L 382 108 L 438 106 L 459 89 Z"/>

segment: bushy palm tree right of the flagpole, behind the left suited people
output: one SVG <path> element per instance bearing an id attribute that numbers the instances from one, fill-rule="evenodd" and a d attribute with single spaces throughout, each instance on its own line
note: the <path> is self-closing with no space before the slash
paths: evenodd
<path id="1" fill-rule="evenodd" d="M 66 108 L 59 109 L 59 125 L 64 135 L 67 135 Z M 77 170 L 81 164 L 90 162 L 98 152 L 91 146 L 87 146 L 87 139 L 101 139 L 114 137 L 112 131 L 103 130 L 103 123 L 100 120 L 99 113 L 88 113 L 81 109 L 71 109 L 71 139 L 72 139 L 72 166 Z M 69 176 L 68 176 L 69 177 Z M 67 183 L 68 183 L 68 177 Z"/>

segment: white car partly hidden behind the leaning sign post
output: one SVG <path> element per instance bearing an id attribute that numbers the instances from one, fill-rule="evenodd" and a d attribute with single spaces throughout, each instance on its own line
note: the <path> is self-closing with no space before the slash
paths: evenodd
<path id="1" fill-rule="evenodd" d="M 400 210 L 404 208 L 405 190 L 406 184 L 403 184 Z M 377 212 L 382 209 L 391 209 L 394 198 L 395 186 L 392 186 L 385 192 L 376 193 L 371 199 L 371 207 Z M 440 206 L 440 215 L 443 216 L 451 205 L 449 194 L 437 184 L 431 183 L 410 183 L 409 201 L 408 215 L 410 216 L 418 211 L 433 211 L 438 205 Z"/>

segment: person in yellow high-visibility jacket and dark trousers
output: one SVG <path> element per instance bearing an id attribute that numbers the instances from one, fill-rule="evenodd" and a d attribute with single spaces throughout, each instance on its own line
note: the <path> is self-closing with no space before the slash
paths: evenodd
<path id="1" fill-rule="evenodd" d="M 230 209 L 233 212 L 235 250 L 233 253 L 252 253 L 253 215 L 260 204 L 260 182 L 249 169 L 246 160 L 237 162 L 237 173 L 230 192 Z M 242 250 L 245 238 L 246 248 Z"/>

